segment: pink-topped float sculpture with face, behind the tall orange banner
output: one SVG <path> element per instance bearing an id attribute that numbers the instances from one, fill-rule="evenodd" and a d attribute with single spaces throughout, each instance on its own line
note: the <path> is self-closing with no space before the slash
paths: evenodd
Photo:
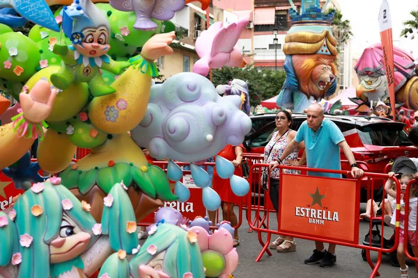
<path id="1" fill-rule="evenodd" d="M 382 44 L 379 42 L 364 49 L 354 67 L 359 84 L 356 87 L 357 96 L 350 100 L 358 105 L 356 111 L 359 113 L 367 113 L 370 108 L 376 112 L 379 101 L 382 103 L 389 101 L 383 60 Z M 394 70 L 396 108 L 405 105 L 406 108 L 417 111 L 418 77 L 415 73 L 414 58 L 398 47 L 394 47 Z M 392 115 L 392 111 L 389 109 L 385 115 Z"/>

